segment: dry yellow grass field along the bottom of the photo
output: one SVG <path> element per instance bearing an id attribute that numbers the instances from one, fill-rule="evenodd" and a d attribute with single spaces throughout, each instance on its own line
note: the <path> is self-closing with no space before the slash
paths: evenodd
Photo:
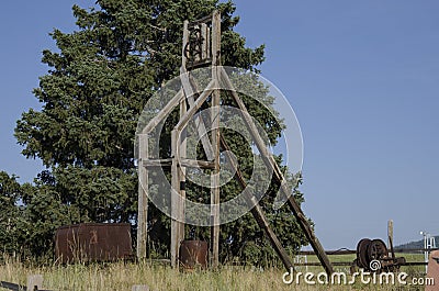
<path id="1" fill-rule="evenodd" d="M 419 259 L 417 255 L 409 258 L 412 261 Z M 331 260 L 346 261 L 352 256 L 335 258 Z M 314 260 L 309 257 L 309 260 Z M 311 267 L 309 267 L 311 268 Z M 421 276 L 421 267 L 403 267 L 402 271 L 410 276 Z M 304 267 L 299 271 L 305 272 Z M 318 267 L 308 269 L 318 272 Z M 345 271 L 345 268 L 337 268 L 337 271 Z M 424 287 L 414 286 L 380 286 L 362 284 L 359 280 L 353 284 L 316 284 L 308 286 L 302 281 L 285 284 L 282 281 L 283 269 L 255 269 L 250 267 L 222 267 L 216 271 L 192 271 L 179 272 L 169 267 L 158 264 L 92 264 L 71 266 L 45 266 L 32 267 L 24 264 L 5 259 L 0 265 L 0 280 L 20 284 L 26 283 L 29 275 L 43 275 L 44 288 L 49 290 L 132 290 L 134 284 L 147 284 L 150 290 L 424 290 Z M 2 290 L 0 288 L 0 290 Z"/>

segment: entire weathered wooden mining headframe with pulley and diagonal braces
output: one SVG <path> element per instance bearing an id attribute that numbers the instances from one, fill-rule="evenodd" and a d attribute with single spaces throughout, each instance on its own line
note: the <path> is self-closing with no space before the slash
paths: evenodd
<path id="1" fill-rule="evenodd" d="M 212 268 L 216 268 L 219 265 L 219 152 L 221 149 L 226 153 L 226 159 L 230 164 L 232 168 L 236 172 L 236 179 L 238 180 L 243 189 L 248 189 L 247 183 L 239 169 L 239 165 L 229 157 L 229 146 L 225 141 L 219 130 L 219 104 L 221 104 L 221 91 L 218 88 L 219 83 L 225 83 L 228 88 L 233 88 L 232 81 L 228 79 L 224 68 L 221 67 L 221 14 L 218 11 L 214 11 L 212 16 L 207 16 L 194 22 L 184 21 L 183 24 L 183 45 L 182 45 L 182 65 L 180 68 L 180 80 L 181 90 L 166 104 L 158 114 L 149 121 L 144 127 L 139 141 L 138 157 L 139 157 L 139 183 L 147 184 L 148 181 L 148 168 L 164 167 L 170 168 L 171 171 L 171 186 L 172 190 L 176 191 L 181 199 L 171 201 L 171 266 L 179 267 L 179 247 L 180 243 L 184 239 L 184 198 L 185 188 L 181 188 L 185 181 L 185 169 L 191 167 L 199 167 L 202 169 L 212 170 L 211 176 L 211 261 Z M 195 81 L 191 77 L 191 70 L 202 66 L 212 67 L 212 80 L 204 88 L 199 90 Z M 199 93 L 201 92 L 201 93 Z M 313 228 L 309 222 L 303 214 L 299 203 L 289 190 L 283 174 L 281 172 L 278 164 L 267 149 L 261 136 L 258 133 L 256 125 L 254 124 L 250 115 L 248 114 L 247 108 L 234 90 L 229 90 L 233 99 L 238 105 L 249 133 L 258 147 L 259 153 L 266 166 L 272 169 L 274 179 L 280 184 L 280 191 L 283 195 L 288 197 L 288 205 L 297 219 L 297 222 L 306 235 L 309 244 L 314 248 L 315 254 L 320 260 L 323 267 L 327 273 L 333 273 L 333 266 L 330 265 L 326 253 L 324 251 L 317 237 L 314 235 Z M 211 97 L 211 110 L 207 114 L 212 130 L 207 134 L 206 126 L 198 111 L 205 104 L 207 98 Z M 148 133 L 151 132 L 166 116 L 176 108 L 180 109 L 180 120 L 173 127 L 171 134 L 171 158 L 166 159 L 151 159 L 148 156 Z M 185 141 L 185 127 L 189 121 L 193 120 L 196 127 L 196 133 L 201 139 L 201 144 L 207 160 L 194 160 L 187 158 L 187 141 Z M 147 187 L 146 187 L 147 188 Z M 137 257 L 138 259 L 146 258 L 146 243 L 147 243 L 147 192 L 148 189 L 144 189 L 139 186 L 138 188 L 138 232 L 137 232 Z M 245 199 L 248 205 L 251 208 L 250 212 L 257 221 L 260 228 L 263 230 L 264 234 L 269 238 L 272 247 L 281 258 L 283 265 L 288 270 L 293 268 L 293 264 L 288 253 L 283 248 L 279 238 L 275 236 L 273 230 L 270 227 L 268 220 L 255 199 L 254 193 L 248 190 L 244 191 Z"/>

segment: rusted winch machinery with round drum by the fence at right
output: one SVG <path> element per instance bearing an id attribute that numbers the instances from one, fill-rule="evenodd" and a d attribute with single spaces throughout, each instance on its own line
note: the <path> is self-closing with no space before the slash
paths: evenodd
<path id="1" fill-rule="evenodd" d="M 365 271 L 397 271 L 404 265 L 404 257 L 395 257 L 392 239 L 390 239 L 391 249 L 382 239 L 363 238 L 357 245 L 357 258 L 352 267 L 359 267 Z"/>

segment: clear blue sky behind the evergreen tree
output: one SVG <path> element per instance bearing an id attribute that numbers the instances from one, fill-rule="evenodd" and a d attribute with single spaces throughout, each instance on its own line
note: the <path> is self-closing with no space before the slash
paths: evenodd
<path id="1" fill-rule="evenodd" d="M 72 31 L 71 5 L 7 1 L 0 14 L 0 170 L 31 181 L 40 161 L 20 155 L 13 128 L 38 104 L 31 93 L 54 48 Z M 289 98 L 304 136 L 306 202 L 325 248 L 362 237 L 395 244 L 439 233 L 439 2 L 436 0 L 236 0 L 237 31 L 267 45 L 262 75 Z"/>

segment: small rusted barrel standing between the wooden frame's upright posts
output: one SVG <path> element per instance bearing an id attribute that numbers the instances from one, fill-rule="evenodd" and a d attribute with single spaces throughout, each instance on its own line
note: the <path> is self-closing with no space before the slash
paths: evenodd
<path id="1" fill-rule="evenodd" d="M 207 242 L 182 240 L 180 244 L 180 264 L 185 270 L 207 268 Z"/>

